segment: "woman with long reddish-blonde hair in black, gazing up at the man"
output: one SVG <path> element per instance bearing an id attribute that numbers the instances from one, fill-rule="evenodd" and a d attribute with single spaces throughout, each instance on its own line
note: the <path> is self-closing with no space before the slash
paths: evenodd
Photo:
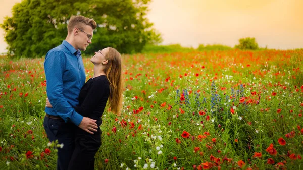
<path id="1" fill-rule="evenodd" d="M 95 52 L 90 59 L 94 64 L 94 75 L 81 88 L 79 105 L 75 111 L 84 117 L 97 120 L 98 130 L 94 134 L 76 128 L 75 150 L 68 169 L 94 169 L 94 156 L 101 146 L 101 116 L 107 101 L 115 114 L 122 108 L 122 64 L 121 55 L 114 48 Z M 52 107 L 47 101 L 46 107 Z"/>

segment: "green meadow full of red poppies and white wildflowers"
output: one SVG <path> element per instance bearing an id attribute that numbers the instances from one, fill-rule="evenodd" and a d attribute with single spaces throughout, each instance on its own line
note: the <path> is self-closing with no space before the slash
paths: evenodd
<path id="1" fill-rule="evenodd" d="M 1 169 L 56 169 L 43 62 L 0 56 Z M 123 110 L 102 116 L 95 169 L 303 169 L 303 50 L 134 54 L 123 63 Z"/>

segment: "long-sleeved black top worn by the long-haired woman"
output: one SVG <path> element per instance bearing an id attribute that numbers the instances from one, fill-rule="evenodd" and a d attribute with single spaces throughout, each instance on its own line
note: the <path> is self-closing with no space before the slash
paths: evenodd
<path id="1" fill-rule="evenodd" d="M 110 83 L 105 75 L 90 78 L 81 88 L 79 95 L 79 105 L 74 107 L 75 111 L 83 117 L 97 120 L 98 132 L 93 135 L 76 128 L 75 138 L 100 136 L 100 125 L 102 124 L 101 116 L 104 112 L 107 100 L 110 95 Z"/>

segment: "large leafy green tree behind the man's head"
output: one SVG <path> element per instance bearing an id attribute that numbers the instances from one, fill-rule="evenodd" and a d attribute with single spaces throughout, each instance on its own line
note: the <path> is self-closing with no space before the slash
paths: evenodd
<path id="1" fill-rule="evenodd" d="M 140 52 L 146 44 L 157 44 L 160 34 L 146 18 L 150 0 L 23 0 L 12 9 L 1 27 L 5 30 L 8 54 L 17 57 L 43 56 L 62 43 L 72 15 L 93 18 L 97 23 L 92 54 L 105 47 L 121 53 Z"/>

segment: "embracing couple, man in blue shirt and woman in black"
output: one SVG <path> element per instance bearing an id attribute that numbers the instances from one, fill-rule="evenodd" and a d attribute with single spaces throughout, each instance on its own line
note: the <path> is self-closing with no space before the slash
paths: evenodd
<path id="1" fill-rule="evenodd" d="M 62 44 L 45 56 L 46 108 L 44 129 L 49 141 L 58 140 L 57 169 L 94 169 L 101 146 L 101 116 L 107 101 L 118 114 L 122 108 L 122 61 L 111 47 L 94 53 L 94 74 L 87 82 L 81 51 L 91 44 L 96 22 L 72 16 Z"/>

